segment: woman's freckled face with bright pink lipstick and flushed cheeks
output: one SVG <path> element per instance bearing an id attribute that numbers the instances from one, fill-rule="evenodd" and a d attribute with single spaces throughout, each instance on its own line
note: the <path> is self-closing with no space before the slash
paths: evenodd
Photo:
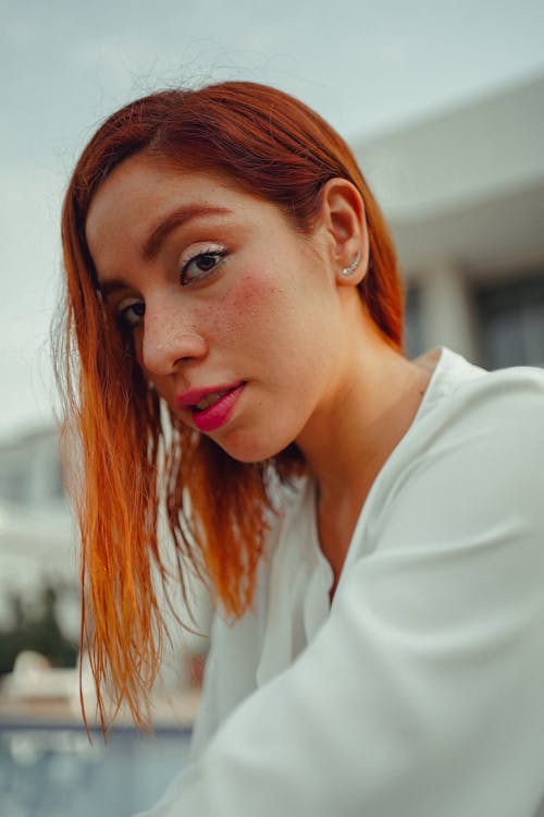
<path id="1" fill-rule="evenodd" d="M 225 176 L 140 154 L 101 185 L 86 233 L 120 331 L 184 423 L 243 462 L 318 432 L 342 334 L 318 228 L 302 235 Z"/>

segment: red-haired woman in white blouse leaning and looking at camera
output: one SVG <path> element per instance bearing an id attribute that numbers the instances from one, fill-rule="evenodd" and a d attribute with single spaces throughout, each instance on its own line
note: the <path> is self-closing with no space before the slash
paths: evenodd
<path id="1" fill-rule="evenodd" d="M 193 764 L 150 814 L 544 809 L 542 373 L 406 359 L 349 149 L 264 86 L 113 114 L 63 242 L 100 703 L 146 718 L 162 504 L 218 605 Z"/>

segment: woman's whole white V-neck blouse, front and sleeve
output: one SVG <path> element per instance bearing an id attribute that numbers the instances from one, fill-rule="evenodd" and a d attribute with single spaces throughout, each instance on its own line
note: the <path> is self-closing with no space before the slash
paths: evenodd
<path id="1" fill-rule="evenodd" d="M 443 350 L 332 608 L 311 483 L 149 817 L 544 815 L 544 373 Z"/>

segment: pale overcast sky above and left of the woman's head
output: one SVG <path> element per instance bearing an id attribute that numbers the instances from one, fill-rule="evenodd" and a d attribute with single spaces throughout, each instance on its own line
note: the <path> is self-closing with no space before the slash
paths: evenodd
<path id="1" fill-rule="evenodd" d="M 360 142 L 544 71 L 542 0 L 0 0 L 0 441 L 53 419 L 62 195 L 115 108 L 252 80 Z"/>

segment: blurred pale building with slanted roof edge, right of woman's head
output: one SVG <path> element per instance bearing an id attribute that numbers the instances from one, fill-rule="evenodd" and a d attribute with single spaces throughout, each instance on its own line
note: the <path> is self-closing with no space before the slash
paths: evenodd
<path id="1" fill-rule="evenodd" d="M 408 283 L 408 347 L 544 363 L 544 74 L 355 145 Z"/>

